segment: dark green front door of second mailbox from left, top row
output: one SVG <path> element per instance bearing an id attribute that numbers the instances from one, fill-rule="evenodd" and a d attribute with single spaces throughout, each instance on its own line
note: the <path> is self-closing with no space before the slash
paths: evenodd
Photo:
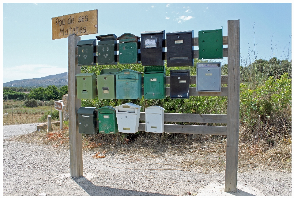
<path id="1" fill-rule="evenodd" d="M 115 54 L 114 54 L 114 46 L 115 44 L 107 44 L 107 45 L 98 45 L 98 56 L 97 56 L 97 64 L 98 65 L 111 65 L 115 64 Z"/>

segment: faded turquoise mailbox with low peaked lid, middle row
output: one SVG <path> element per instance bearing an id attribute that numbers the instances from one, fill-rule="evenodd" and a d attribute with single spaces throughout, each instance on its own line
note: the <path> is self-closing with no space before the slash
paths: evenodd
<path id="1" fill-rule="evenodd" d="M 116 99 L 142 98 L 142 72 L 124 69 L 116 73 Z"/>

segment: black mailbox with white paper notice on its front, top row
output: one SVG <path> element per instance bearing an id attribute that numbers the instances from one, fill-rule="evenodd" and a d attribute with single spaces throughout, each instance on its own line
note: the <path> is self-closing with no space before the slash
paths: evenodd
<path id="1" fill-rule="evenodd" d="M 164 30 L 141 32 L 141 64 L 164 65 L 162 57 L 162 41 L 164 40 Z"/>

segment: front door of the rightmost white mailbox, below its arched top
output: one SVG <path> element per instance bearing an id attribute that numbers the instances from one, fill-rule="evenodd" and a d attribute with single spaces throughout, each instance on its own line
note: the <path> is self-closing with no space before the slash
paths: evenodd
<path id="1" fill-rule="evenodd" d="M 162 133 L 161 114 L 146 113 L 146 132 Z"/>

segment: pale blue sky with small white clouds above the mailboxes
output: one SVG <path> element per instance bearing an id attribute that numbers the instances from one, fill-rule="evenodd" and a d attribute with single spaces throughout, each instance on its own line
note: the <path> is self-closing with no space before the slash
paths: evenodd
<path id="1" fill-rule="evenodd" d="M 227 21 L 240 19 L 243 60 L 252 58 L 253 38 L 257 59 L 269 60 L 271 45 L 279 59 L 291 53 L 291 3 L 3 3 L 3 83 L 67 72 L 67 39 L 51 40 L 51 18 L 95 9 L 97 35 L 194 30 L 198 37 L 199 30 L 223 26 L 226 36 Z"/>

